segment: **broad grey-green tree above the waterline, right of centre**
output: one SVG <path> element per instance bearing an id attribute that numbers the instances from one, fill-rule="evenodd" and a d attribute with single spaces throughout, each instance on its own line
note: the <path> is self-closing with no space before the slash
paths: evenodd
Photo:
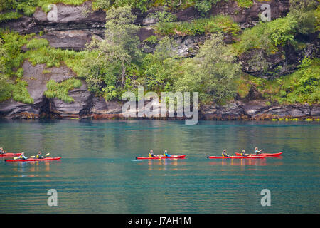
<path id="1" fill-rule="evenodd" d="M 235 56 L 223 42 L 221 33 L 213 34 L 199 53 L 181 67 L 182 75 L 175 83 L 178 91 L 198 91 L 205 103 L 223 104 L 235 97 L 235 80 L 240 77 L 241 67 Z"/>

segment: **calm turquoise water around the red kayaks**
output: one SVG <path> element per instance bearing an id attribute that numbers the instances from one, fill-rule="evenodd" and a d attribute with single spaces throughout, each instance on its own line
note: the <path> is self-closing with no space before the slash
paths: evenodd
<path id="1" fill-rule="evenodd" d="M 319 213 L 320 125 L 161 120 L 0 121 L 0 147 L 63 158 L 4 162 L 0 213 Z M 208 160 L 257 146 L 264 160 Z M 183 160 L 135 160 L 186 154 Z M 271 206 L 262 207 L 267 188 Z M 47 192 L 58 192 L 49 207 Z"/>

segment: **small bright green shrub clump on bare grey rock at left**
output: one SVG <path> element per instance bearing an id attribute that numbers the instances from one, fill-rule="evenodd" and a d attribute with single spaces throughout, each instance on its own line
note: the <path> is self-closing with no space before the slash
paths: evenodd
<path id="1" fill-rule="evenodd" d="M 58 98 L 66 103 L 72 103 L 75 100 L 68 93 L 74 88 L 80 88 L 81 85 L 81 81 L 75 78 L 69 78 L 61 83 L 50 80 L 46 85 L 47 90 L 44 92 L 44 95 L 47 98 Z"/>

